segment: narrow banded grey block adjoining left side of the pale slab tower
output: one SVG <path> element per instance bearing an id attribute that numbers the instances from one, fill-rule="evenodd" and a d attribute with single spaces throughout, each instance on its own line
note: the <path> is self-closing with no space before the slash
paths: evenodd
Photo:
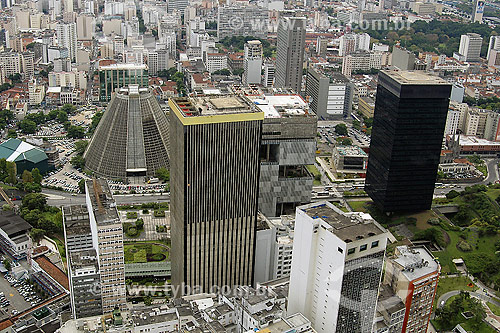
<path id="1" fill-rule="evenodd" d="M 71 312 L 74 319 L 102 314 L 97 253 L 87 206 L 63 207 Z"/>

